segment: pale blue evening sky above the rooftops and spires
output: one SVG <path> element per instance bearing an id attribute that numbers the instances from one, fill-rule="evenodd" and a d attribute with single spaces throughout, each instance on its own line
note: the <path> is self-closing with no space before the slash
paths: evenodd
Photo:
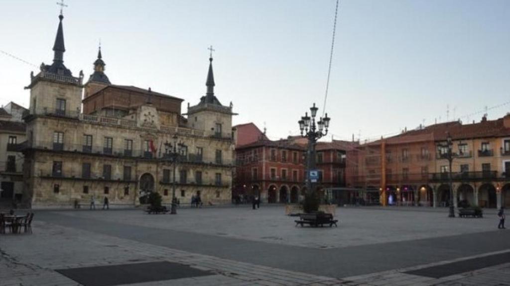
<path id="1" fill-rule="evenodd" d="M 0 103 L 29 105 L 30 71 L 51 63 L 56 0 L 1 0 Z M 215 95 L 234 124 L 271 139 L 299 134 L 315 102 L 326 139 L 373 140 L 404 128 L 510 111 L 510 1 L 67 0 L 64 64 L 92 73 L 99 41 L 114 84 L 197 104 L 213 46 Z M 31 63 L 14 59 L 5 52 Z"/>

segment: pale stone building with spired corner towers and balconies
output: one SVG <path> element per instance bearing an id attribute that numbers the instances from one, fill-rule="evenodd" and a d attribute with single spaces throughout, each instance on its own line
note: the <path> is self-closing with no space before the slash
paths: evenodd
<path id="1" fill-rule="evenodd" d="M 95 73 L 105 78 L 100 56 L 99 52 Z M 82 84 L 83 73 L 77 78 L 68 70 L 52 72 L 65 69 L 62 55 L 56 63 L 57 68 L 42 65 L 27 87 L 31 106 L 24 117 L 25 206 L 88 205 L 92 196 L 96 204 L 108 197 L 111 205 L 134 206 L 150 192 L 160 193 L 163 204 L 170 204 L 173 187 L 181 204 L 190 203 L 192 195 L 199 195 L 203 204 L 231 202 L 232 105 L 199 103 L 188 108 L 193 120 L 187 123 L 180 114 L 182 99 L 113 85 L 107 77 L 95 82 L 95 73 Z M 119 111 L 111 112 L 113 102 Z M 219 133 L 210 129 L 218 126 Z M 175 143 L 181 153 L 173 163 Z"/>

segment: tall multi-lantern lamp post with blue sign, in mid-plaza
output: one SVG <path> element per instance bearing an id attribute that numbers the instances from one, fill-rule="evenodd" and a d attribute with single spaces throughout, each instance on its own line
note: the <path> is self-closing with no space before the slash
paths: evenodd
<path id="1" fill-rule="evenodd" d="M 299 130 L 301 131 L 301 137 L 308 138 L 308 150 L 307 150 L 307 193 L 312 194 L 314 192 L 312 188 L 312 182 L 310 180 L 310 170 L 315 169 L 315 144 L 318 139 L 327 135 L 327 129 L 329 128 L 329 121 L 331 120 L 326 116 L 324 118 L 320 117 L 315 122 L 317 116 L 317 108 L 315 103 L 312 107 L 310 107 L 310 115 L 308 116 L 308 112 L 304 113 L 304 116 L 301 117 L 297 123 L 299 124 Z"/>

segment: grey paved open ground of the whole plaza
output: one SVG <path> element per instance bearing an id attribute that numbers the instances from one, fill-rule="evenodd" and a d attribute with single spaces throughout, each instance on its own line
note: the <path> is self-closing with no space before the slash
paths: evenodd
<path id="1" fill-rule="evenodd" d="M 510 232 L 494 210 L 337 208 L 336 218 L 296 227 L 283 206 L 247 205 L 36 211 L 32 235 L 0 235 L 0 285 L 510 285 Z"/>

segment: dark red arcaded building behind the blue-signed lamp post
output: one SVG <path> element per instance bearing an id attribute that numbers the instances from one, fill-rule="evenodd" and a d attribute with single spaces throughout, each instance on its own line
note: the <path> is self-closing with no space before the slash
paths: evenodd
<path id="1" fill-rule="evenodd" d="M 262 202 L 267 203 L 298 203 L 305 190 L 308 141 L 301 137 L 269 140 L 251 123 L 235 128 L 237 144 L 233 195 L 258 195 Z M 318 190 L 345 187 L 345 146 L 345 141 L 318 142 Z"/>

